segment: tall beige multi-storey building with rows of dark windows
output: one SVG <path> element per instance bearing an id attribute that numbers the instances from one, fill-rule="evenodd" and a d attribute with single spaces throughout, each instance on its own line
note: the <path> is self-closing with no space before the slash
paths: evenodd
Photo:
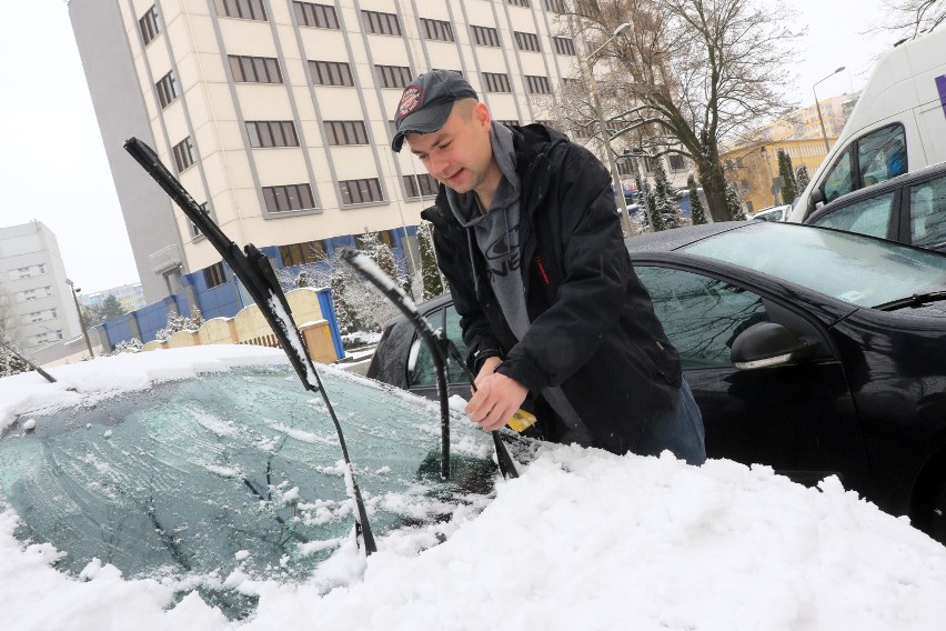
<path id="1" fill-rule="evenodd" d="M 220 257 L 125 154 L 151 144 L 239 244 L 278 268 L 378 232 L 412 264 L 435 193 L 390 149 L 403 87 L 462 73 L 502 122 L 547 120 L 580 77 L 561 0 L 72 0 L 145 300 L 225 282 Z M 238 297 L 239 298 L 239 297 Z M 234 304 L 241 300 L 235 300 Z"/>

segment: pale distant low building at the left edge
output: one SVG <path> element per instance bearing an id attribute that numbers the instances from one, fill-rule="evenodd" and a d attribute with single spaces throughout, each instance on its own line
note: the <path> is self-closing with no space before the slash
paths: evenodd
<path id="1" fill-rule="evenodd" d="M 4 337 L 30 354 L 79 337 L 79 314 L 56 234 L 40 221 L 0 228 Z"/>

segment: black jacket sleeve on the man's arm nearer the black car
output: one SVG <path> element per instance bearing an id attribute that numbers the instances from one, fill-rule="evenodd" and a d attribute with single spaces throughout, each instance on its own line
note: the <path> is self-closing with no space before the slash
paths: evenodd
<path id="1" fill-rule="evenodd" d="M 617 329 L 628 274 L 607 171 L 584 148 L 563 150 L 553 173 L 557 199 L 549 202 L 555 211 L 536 219 L 561 222 L 563 282 L 499 368 L 533 392 L 560 385 Z"/>

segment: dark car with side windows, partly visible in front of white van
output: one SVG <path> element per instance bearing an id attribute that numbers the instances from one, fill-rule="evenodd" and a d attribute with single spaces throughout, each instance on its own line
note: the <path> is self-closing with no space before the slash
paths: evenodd
<path id="1" fill-rule="evenodd" d="M 839 197 L 805 223 L 946 251 L 946 162 Z"/>

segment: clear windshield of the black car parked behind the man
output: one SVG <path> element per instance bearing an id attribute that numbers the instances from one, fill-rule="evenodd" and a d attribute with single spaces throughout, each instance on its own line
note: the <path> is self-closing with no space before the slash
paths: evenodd
<path id="1" fill-rule="evenodd" d="M 764 272 L 859 307 L 946 290 L 946 257 L 849 232 L 753 222 L 681 251 Z"/>

